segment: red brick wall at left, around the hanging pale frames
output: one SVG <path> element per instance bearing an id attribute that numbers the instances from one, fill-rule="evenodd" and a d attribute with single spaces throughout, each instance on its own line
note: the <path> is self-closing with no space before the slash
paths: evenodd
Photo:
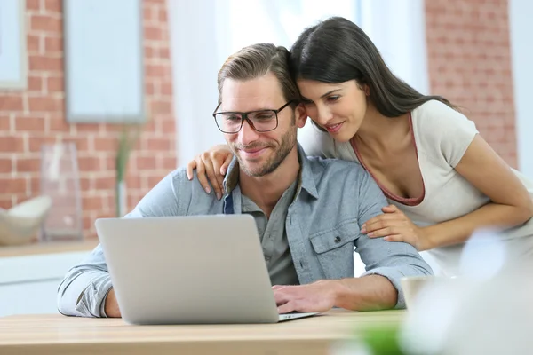
<path id="1" fill-rule="evenodd" d="M 115 214 L 115 149 L 119 129 L 65 120 L 61 0 L 26 0 L 28 90 L 0 91 L 0 207 L 39 194 L 40 147 L 75 142 L 84 235 L 96 217 Z M 164 0 L 144 0 L 145 70 L 150 122 L 131 154 L 128 209 L 176 167 L 171 59 Z"/>

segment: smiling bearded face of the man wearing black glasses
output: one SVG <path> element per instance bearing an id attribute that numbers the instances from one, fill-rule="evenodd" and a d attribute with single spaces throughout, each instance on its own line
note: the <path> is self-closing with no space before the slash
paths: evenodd
<path id="1" fill-rule="evenodd" d="M 285 105 L 280 84 L 272 73 L 248 81 L 226 79 L 222 88 L 222 104 L 218 112 L 277 110 Z M 238 133 L 224 134 L 243 172 L 263 177 L 280 166 L 296 146 L 297 124 L 303 127 L 306 117 L 287 106 L 278 116 L 275 130 L 258 132 L 246 121 Z M 298 115 L 298 117 L 297 117 Z"/>

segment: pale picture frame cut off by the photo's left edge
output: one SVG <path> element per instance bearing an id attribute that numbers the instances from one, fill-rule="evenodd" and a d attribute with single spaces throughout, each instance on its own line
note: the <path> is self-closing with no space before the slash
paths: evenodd
<path id="1" fill-rule="evenodd" d="M 26 0 L 0 1 L 0 90 L 28 87 Z"/>

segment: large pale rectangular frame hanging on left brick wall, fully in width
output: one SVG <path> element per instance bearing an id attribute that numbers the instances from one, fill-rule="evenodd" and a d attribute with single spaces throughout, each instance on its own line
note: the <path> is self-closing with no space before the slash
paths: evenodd
<path id="1" fill-rule="evenodd" d="M 141 0 L 63 0 L 71 123 L 147 121 Z"/>

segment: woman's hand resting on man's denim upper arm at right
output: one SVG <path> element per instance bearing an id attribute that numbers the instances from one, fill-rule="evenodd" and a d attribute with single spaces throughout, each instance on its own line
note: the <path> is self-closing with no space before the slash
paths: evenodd
<path id="1" fill-rule="evenodd" d="M 383 215 L 370 218 L 362 225 L 361 233 L 369 238 L 384 237 L 386 241 L 405 241 L 418 251 L 431 248 L 424 229 L 411 222 L 409 217 L 394 205 L 381 209 Z"/>

